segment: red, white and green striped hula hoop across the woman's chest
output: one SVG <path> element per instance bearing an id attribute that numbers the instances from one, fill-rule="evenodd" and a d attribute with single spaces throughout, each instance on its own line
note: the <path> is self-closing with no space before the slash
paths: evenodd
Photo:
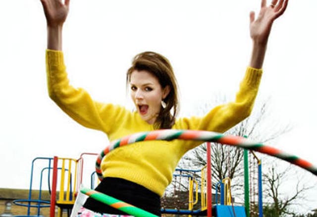
<path id="1" fill-rule="evenodd" d="M 131 143 L 149 140 L 197 140 L 203 142 L 217 142 L 221 144 L 232 145 L 240 148 L 245 148 L 257 152 L 261 152 L 291 164 L 297 165 L 312 174 L 317 175 L 317 167 L 310 162 L 303 160 L 295 155 L 288 154 L 277 148 L 264 145 L 259 142 L 251 141 L 241 136 L 224 135 L 218 132 L 203 131 L 203 130 L 153 130 L 146 132 L 139 132 L 132 135 L 125 136 L 120 139 L 116 139 L 99 154 L 96 161 L 96 173 L 100 180 L 103 179 L 103 174 L 101 170 L 101 162 L 103 158 L 111 150 L 122 147 Z"/>

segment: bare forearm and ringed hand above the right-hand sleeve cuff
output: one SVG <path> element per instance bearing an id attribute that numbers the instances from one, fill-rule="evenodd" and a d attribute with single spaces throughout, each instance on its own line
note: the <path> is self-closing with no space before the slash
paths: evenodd
<path id="1" fill-rule="evenodd" d="M 272 0 L 270 5 L 266 6 L 266 0 L 262 0 L 261 10 L 257 19 L 255 19 L 255 12 L 250 12 L 250 36 L 253 40 L 251 67 L 256 69 L 262 68 L 273 22 L 284 13 L 287 3 L 288 0 Z"/>

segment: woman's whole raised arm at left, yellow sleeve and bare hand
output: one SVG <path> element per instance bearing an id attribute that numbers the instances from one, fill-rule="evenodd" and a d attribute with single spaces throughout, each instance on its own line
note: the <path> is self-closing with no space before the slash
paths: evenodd
<path id="1" fill-rule="evenodd" d="M 62 50 L 62 27 L 66 20 L 69 0 L 41 0 L 48 28 L 46 69 L 51 99 L 79 124 L 106 133 L 111 131 L 124 108 L 94 101 L 82 88 L 69 83 Z"/>

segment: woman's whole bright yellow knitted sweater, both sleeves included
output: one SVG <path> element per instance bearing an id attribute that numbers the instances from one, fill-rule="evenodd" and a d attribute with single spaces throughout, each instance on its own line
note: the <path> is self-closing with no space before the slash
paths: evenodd
<path id="1" fill-rule="evenodd" d="M 137 112 L 94 101 L 84 89 L 70 86 L 61 51 L 47 50 L 46 64 L 50 97 L 79 124 L 102 130 L 110 140 L 154 130 Z M 261 76 L 261 69 L 247 68 L 234 102 L 216 106 L 204 117 L 177 119 L 172 129 L 224 132 L 232 128 L 250 115 Z M 101 164 L 103 175 L 136 182 L 162 196 L 180 158 L 199 144 L 183 140 L 145 141 L 120 147 L 106 155 Z"/>

